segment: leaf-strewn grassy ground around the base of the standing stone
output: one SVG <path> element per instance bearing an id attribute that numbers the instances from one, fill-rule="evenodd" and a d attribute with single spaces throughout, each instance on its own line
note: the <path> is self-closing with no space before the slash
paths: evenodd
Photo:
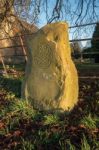
<path id="1" fill-rule="evenodd" d="M 99 149 L 99 79 L 79 81 L 68 114 L 34 110 L 20 98 L 22 80 L 0 77 L 0 150 Z"/>

